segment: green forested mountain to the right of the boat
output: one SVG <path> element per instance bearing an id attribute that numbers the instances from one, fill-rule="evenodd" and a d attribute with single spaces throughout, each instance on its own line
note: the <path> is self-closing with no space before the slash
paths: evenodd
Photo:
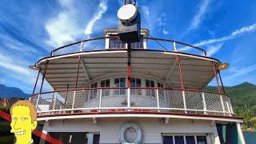
<path id="1" fill-rule="evenodd" d="M 256 86 L 249 82 L 243 82 L 237 86 L 224 87 L 227 96 L 230 98 L 235 114 L 244 118 L 245 127 L 254 127 L 256 122 L 250 121 L 256 116 Z M 206 86 L 206 91 L 217 92 L 217 86 Z"/>

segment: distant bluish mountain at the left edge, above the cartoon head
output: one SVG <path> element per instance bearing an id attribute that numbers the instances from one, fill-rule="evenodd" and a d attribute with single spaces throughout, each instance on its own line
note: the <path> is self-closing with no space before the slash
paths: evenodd
<path id="1" fill-rule="evenodd" d="M 25 94 L 16 87 L 9 87 L 0 84 L 0 98 L 28 98 L 30 94 Z"/>

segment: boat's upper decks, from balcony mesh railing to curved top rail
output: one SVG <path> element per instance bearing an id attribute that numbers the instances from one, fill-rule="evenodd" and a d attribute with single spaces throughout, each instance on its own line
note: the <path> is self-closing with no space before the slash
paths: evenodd
<path id="1" fill-rule="evenodd" d="M 127 49 L 114 30 L 104 34 L 59 47 L 38 61 L 42 83 L 38 94 L 35 85 L 30 101 L 39 118 L 104 112 L 233 117 L 230 98 L 219 84 L 222 63 L 207 57 L 205 50 L 148 38 L 148 32 Z M 218 93 L 203 91 L 213 78 Z M 44 80 L 53 91 L 42 91 Z"/>

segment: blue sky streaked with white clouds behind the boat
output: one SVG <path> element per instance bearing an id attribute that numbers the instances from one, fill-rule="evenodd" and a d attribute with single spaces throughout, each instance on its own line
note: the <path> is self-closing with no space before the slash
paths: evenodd
<path id="1" fill-rule="evenodd" d="M 58 46 L 102 37 L 117 27 L 123 0 L 0 2 L 0 83 L 31 93 L 36 72 L 27 68 Z M 256 84 L 256 1 L 138 0 L 142 27 L 154 38 L 200 46 L 230 63 L 224 85 Z M 214 82 L 211 84 L 214 85 Z"/>

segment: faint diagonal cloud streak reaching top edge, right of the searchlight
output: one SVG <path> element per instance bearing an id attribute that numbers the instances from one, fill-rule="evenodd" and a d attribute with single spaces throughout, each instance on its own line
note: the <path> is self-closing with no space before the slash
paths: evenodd
<path id="1" fill-rule="evenodd" d="M 194 30 L 199 26 L 200 22 L 202 22 L 202 18 L 206 14 L 209 3 L 210 3 L 210 0 L 201 1 L 198 13 L 194 15 L 194 18 L 190 22 L 190 27 L 188 30 Z"/>

